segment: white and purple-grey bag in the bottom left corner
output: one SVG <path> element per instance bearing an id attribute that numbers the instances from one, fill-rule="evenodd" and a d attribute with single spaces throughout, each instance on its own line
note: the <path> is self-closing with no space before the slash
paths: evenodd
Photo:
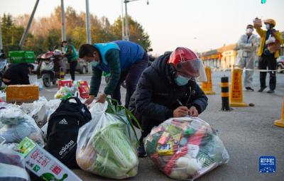
<path id="1" fill-rule="evenodd" d="M 4 143 L 5 139 L 0 137 L 0 180 L 30 180 L 23 157 L 11 148 L 3 146 Z"/>

